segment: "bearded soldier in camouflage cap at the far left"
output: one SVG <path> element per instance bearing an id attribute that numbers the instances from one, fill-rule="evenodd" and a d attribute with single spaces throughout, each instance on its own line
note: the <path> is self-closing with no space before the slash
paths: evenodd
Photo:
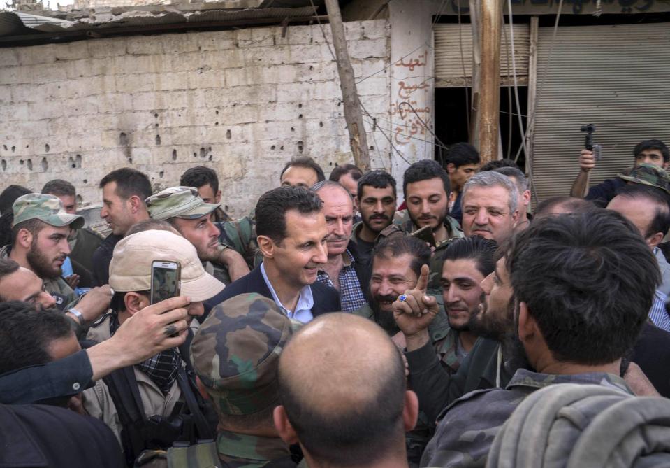
<path id="1" fill-rule="evenodd" d="M 9 257 L 34 271 L 56 305 L 64 309 L 76 296 L 61 278 L 61 265 L 70 254 L 70 229 L 82 227 L 84 218 L 66 213 L 58 197 L 48 194 L 23 195 L 14 202 L 13 211 L 14 243 L 0 250 L 0 258 Z"/>

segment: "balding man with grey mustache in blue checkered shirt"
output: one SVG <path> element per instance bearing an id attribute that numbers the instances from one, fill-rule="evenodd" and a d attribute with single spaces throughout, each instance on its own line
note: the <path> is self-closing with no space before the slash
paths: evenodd
<path id="1" fill-rule="evenodd" d="M 328 262 L 319 268 L 316 281 L 340 292 L 342 312 L 356 311 L 365 304 L 361 283 L 366 282 L 365 277 L 358 274 L 360 271 L 364 275 L 365 269 L 357 268 L 356 245 L 350 239 L 354 227 L 354 200 L 346 188 L 331 180 L 317 183 L 312 192 L 323 201 L 323 215 L 328 227 Z"/>

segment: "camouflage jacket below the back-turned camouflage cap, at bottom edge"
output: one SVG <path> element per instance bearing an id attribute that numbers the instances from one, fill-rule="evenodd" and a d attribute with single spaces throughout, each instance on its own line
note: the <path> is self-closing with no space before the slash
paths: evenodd
<path id="1" fill-rule="evenodd" d="M 264 467 L 269 462 L 286 460 L 281 466 L 295 467 L 291 452 L 279 437 L 260 437 L 219 429 L 217 436 L 219 459 L 230 468 Z"/>

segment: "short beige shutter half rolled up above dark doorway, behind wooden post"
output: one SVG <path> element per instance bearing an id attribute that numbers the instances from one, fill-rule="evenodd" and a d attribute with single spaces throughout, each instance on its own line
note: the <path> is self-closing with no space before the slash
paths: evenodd
<path id="1" fill-rule="evenodd" d="M 503 31 L 500 39 L 501 84 L 511 85 L 514 80 L 509 78 L 512 76 L 509 24 L 504 25 Z M 514 24 L 514 57 L 519 85 L 528 84 L 529 49 L 530 27 L 528 24 Z M 435 76 L 435 87 L 472 86 L 472 29 L 469 24 L 435 24 Z"/>

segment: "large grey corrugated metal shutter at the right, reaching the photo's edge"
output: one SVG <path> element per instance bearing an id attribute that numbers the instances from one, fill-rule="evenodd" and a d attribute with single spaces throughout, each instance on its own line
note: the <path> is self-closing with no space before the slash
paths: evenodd
<path id="1" fill-rule="evenodd" d="M 602 145 L 591 185 L 632 166 L 640 141 L 670 143 L 670 23 L 560 27 L 543 84 L 552 34 L 539 29 L 532 166 L 539 201 L 569 194 L 581 125 L 595 124 Z"/>

